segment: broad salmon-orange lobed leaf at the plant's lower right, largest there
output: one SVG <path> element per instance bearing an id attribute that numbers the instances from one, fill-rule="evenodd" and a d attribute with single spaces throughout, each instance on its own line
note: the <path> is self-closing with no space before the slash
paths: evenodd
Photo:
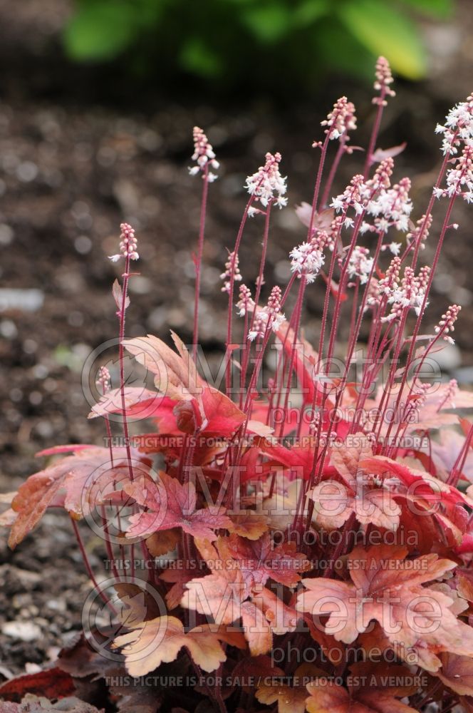
<path id="1" fill-rule="evenodd" d="M 323 630 L 347 644 L 375 620 L 393 644 L 402 642 L 403 655 L 415 651 L 422 667 L 436 671 L 441 665 L 437 652 L 471 655 L 473 630 L 452 612 L 452 597 L 422 587 L 455 563 L 434 554 L 405 560 L 406 553 L 407 548 L 396 545 L 355 548 L 348 555 L 352 582 L 303 580 L 307 591 L 299 595 L 298 609 L 311 612 L 314 621 L 329 615 Z"/>

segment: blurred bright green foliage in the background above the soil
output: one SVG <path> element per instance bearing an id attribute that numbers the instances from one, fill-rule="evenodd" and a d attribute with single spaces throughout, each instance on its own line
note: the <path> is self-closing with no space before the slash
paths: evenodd
<path id="1" fill-rule="evenodd" d="M 372 76 L 379 54 L 415 80 L 427 66 L 417 21 L 447 19 L 453 1 L 76 0 L 64 43 L 75 61 L 121 56 L 133 71 L 228 86 Z"/>

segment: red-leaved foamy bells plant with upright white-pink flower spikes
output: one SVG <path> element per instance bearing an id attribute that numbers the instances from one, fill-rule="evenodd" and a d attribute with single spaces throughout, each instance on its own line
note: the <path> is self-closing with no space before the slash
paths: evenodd
<path id="1" fill-rule="evenodd" d="M 105 420 L 109 436 L 121 429 L 123 445 L 109 439 L 108 448 L 43 452 L 72 455 L 28 478 L 4 515 L 15 547 L 49 507 L 65 508 L 74 524 L 98 510 L 115 563 L 113 602 L 75 530 L 113 611 L 130 605 L 129 590 L 118 586 L 130 575 L 122 560 L 139 553 L 132 575 L 160 602 L 159 614 L 142 606 L 122 616 L 112 650 L 132 676 L 169 674 L 172 662 L 197 676 L 180 688 L 163 684 L 156 691 L 163 710 L 204 710 L 205 697 L 221 713 L 473 710 L 473 428 L 455 411 L 472 408 L 473 394 L 422 377 L 452 341 L 459 315 L 459 305 L 446 305 L 432 334 L 422 330 L 442 244 L 458 227 L 454 204 L 471 200 L 473 98 L 437 129 L 442 165 L 427 206 L 417 209 L 410 180 L 393 182 L 400 147 L 377 148 L 392 83 L 380 58 L 364 165 L 345 190 L 336 180 L 355 108 L 343 97 L 322 122 L 312 202 L 297 209 L 306 235 L 289 255 L 287 284 L 265 284 L 272 210 L 291 210 L 281 155 L 266 154 L 246 179 L 221 275 L 228 297 L 221 389 L 201 376 L 197 351 L 217 160 L 194 129 L 190 172 L 202 178 L 202 208 L 192 345 L 176 334 L 172 347 L 157 337 L 125 338 L 139 241 L 123 225 L 112 258 L 124 260 L 113 289 L 120 382 L 110 388 L 100 372 L 102 396 L 90 414 Z M 261 225 L 257 275 L 239 268 L 249 218 Z M 304 299 L 313 282 L 326 289 L 309 344 Z M 124 349 L 155 376 L 155 389 L 125 385 Z M 135 431 L 137 420 L 142 426 L 132 440 L 131 418 Z M 130 514 L 116 543 L 106 516 L 125 500 Z"/>

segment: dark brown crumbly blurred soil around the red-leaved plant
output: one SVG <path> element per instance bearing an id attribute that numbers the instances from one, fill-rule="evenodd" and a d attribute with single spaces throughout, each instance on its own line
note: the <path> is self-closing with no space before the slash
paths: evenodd
<path id="1" fill-rule="evenodd" d="M 426 205 L 440 163 L 435 123 L 470 89 L 472 57 L 465 38 L 473 13 L 467 1 L 463 5 L 462 22 L 450 28 L 459 38 L 455 51 L 443 63 L 437 53 L 429 82 L 400 83 L 380 138 L 383 147 L 409 138 L 397 160 L 396 177 L 415 176 L 415 217 Z M 165 338 L 175 329 L 184 341 L 189 338 L 200 189 L 186 170 L 192 126 L 208 129 L 222 163 L 221 178 L 211 186 L 202 279 L 202 346 L 217 354 L 226 322 L 219 273 L 239 225 L 246 174 L 256 170 L 266 151 L 281 151 L 284 173 L 289 174 L 289 208 L 275 216 L 267 282 L 284 282 L 287 254 L 304 236 L 293 206 L 311 197 L 316 161 L 311 143 L 320 135 L 323 114 L 348 91 L 360 108 L 360 125 L 369 123 L 373 113 L 366 88 L 336 82 L 311 103 L 296 106 L 279 107 L 263 98 L 222 106 L 218 98 L 205 101 L 202 96 L 185 103 L 182 97 L 140 97 L 133 91 L 123 92 L 118 103 L 118 91 L 108 91 L 105 74 L 95 76 L 94 69 L 80 70 L 63 61 L 56 36 L 69 11 L 63 0 L 0 0 L 0 24 L 10 30 L 0 48 L 5 78 L 0 104 L 4 492 L 14 491 L 41 467 L 45 461 L 36 461 L 34 454 L 42 448 L 100 443 L 103 438 L 103 424 L 86 418 L 91 404 L 83 387 L 83 364 L 94 349 L 100 351 L 117 336 L 111 284 L 119 271 L 108 255 L 117 251 L 122 220 L 135 226 L 141 256 L 141 275 L 130 287 L 128 335 L 150 332 Z M 365 145 L 365 129 L 360 128 L 353 143 Z M 356 170 L 355 160 L 360 160 L 356 152 L 336 188 L 343 190 L 343 181 Z M 442 208 L 437 211 L 440 215 Z M 457 349 L 448 352 L 445 369 L 473 381 L 473 241 L 466 205 L 458 206 L 454 220 L 460 228 L 447 240 L 426 327 L 432 328 L 448 304 L 464 305 Z M 425 262 L 432 260 L 435 237 L 433 233 Z M 256 276 L 260 241 L 261 225 L 255 220 L 241 252 L 247 281 Z M 7 289 L 22 292 L 9 294 Z M 309 295 L 308 339 L 317 334 L 321 289 L 314 286 Z M 115 347 L 116 342 L 100 352 L 95 365 L 113 362 Z M 90 549 L 98 565 L 100 548 L 92 542 Z M 65 515 L 46 515 L 14 553 L 2 538 L 0 559 L 0 631 L 3 622 L 11 621 L 30 622 L 41 630 L 41 637 L 31 641 L 0 633 L 0 677 L 6 677 L 26 664 L 51 659 L 65 635 L 80 630 L 90 585 Z"/>

